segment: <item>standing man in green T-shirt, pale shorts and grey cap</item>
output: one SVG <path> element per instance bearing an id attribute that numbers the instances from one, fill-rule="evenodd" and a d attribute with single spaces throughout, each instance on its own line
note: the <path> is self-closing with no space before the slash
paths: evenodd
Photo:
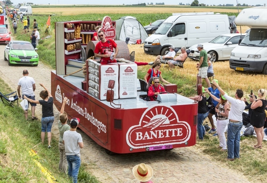
<path id="1" fill-rule="evenodd" d="M 200 43 L 197 46 L 198 51 L 200 51 L 199 55 L 199 64 L 197 64 L 197 69 L 198 69 L 198 83 L 202 83 L 202 79 L 205 79 L 208 87 L 210 87 L 210 82 L 207 76 L 207 71 L 208 71 L 208 54 L 206 50 L 203 49 L 203 45 Z"/>

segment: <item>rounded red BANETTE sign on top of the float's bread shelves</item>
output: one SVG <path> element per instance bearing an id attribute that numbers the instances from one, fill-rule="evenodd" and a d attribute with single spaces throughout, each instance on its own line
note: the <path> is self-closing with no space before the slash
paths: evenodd
<path id="1" fill-rule="evenodd" d="M 116 37 L 116 29 L 112 25 L 111 18 L 109 16 L 105 16 L 102 20 L 101 29 L 105 32 L 105 37 L 108 39 L 115 40 Z"/>

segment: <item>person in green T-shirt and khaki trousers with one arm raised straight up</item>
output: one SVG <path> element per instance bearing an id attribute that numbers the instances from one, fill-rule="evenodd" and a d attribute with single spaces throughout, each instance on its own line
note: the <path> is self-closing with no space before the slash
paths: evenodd
<path id="1" fill-rule="evenodd" d="M 68 162 L 65 152 L 65 145 L 63 144 L 63 134 L 64 132 L 70 130 L 70 126 L 67 124 L 68 115 L 64 111 L 64 107 L 67 103 L 68 98 L 64 97 L 63 104 L 60 110 L 59 120 L 58 120 L 58 130 L 59 130 L 59 142 L 58 142 L 58 149 L 59 149 L 59 164 L 58 169 L 63 172 L 67 173 Z"/>

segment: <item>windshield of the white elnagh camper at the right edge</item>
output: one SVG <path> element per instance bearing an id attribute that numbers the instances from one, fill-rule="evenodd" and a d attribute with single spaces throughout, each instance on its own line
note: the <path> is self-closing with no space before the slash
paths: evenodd
<path id="1" fill-rule="evenodd" d="M 267 47 L 267 29 L 250 29 L 240 45 Z"/>

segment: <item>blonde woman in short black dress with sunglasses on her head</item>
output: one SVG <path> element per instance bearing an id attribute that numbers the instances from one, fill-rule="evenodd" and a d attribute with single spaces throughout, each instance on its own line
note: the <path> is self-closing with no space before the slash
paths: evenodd
<path id="1" fill-rule="evenodd" d="M 257 135 L 257 144 L 254 145 L 254 148 L 262 148 L 261 144 L 264 137 L 263 126 L 266 119 L 266 114 L 264 112 L 265 107 L 267 105 L 266 96 L 267 90 L 260 89 L 258 90 L 258 98 L 255 99 L 254 93 L 252 93 L 253 103 L 250 108 L 252 109 L 250 116 L 250 123 L 254 127 L 255 133 Z"/>

